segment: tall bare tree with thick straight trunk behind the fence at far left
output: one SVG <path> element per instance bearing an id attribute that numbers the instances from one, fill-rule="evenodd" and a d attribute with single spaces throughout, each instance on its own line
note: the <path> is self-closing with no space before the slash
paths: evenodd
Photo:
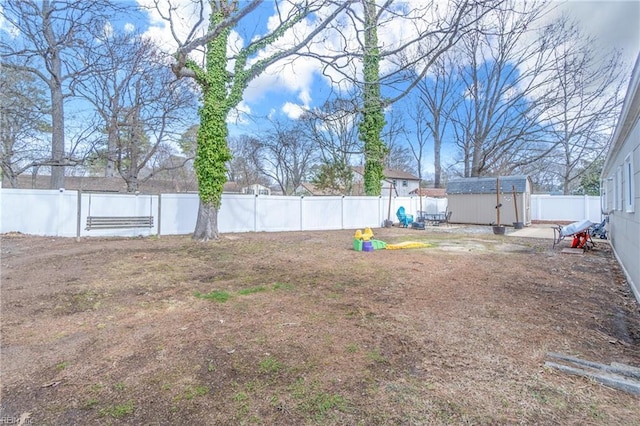
<path id="1" fill-rule="evenodd" d="M 65 98 L 68 84 L 86 73 L 78 49 L 93 43 L 92 32 L 113 16 L 109 0 L 20 0 L 4 2 L 2 17 L 11 31 L 0 37 L 2 66 L 29 72 L 48 87 L 51 98 L 51 188 L 64 187 Z M 118 5 L 118 7 L 120 7 Z"/>

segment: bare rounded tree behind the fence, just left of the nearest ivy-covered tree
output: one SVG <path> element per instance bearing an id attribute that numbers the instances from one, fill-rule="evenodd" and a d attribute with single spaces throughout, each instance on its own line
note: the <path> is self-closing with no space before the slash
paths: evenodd
<path id="1" fill-rule="evenodd" d="M 194 96 L 187 81 L 176 80 L 151 41 L 133 33 L 106 34 L 100 41 L 85 52 L 87 62 L 99 68 L 73 88 L 102 118 L 105 176 L 117 173 L 127 191 L 135 192 L 140 182 L 188 161 L 167 161 L 168 142 L 195 118 Z"/>

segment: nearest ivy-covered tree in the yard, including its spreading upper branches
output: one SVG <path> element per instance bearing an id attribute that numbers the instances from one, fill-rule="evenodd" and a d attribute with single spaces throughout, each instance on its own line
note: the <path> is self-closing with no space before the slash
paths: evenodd
<path id="1" fill-rule="evenodd" d="M 242 94 L 252 79 L 280 59 L 294 55 L 300 49 L 307 47 L 311 40 L 353 1 L 356 0 L 342 3 L 332 1 L 292 3 L 293 9 L 286 17 L 284 14 L 280 15 L 284 19 L 275 28 L 269 29 L 264 36 L 252 39 L 236 52 L 232 72 L 227 69 L 227 43 L 231 28 L 256 10 L 262 3 L 261 0 L 247 2 L 208 0 L 212 12 L 209 16 L 207 34 L 197 36 L 198 31 L 194 28 L 189 40 L 176 39 L 180 47 L 171 68 L 178 78 L 195 79 L 203 95 L 194 162 L 200 194 L 200 209 L 193 234 L 194 239 L 207 241 L 218 238 L 218 210 L 222 201 L 222 188 L 227 177 L 226 163 L 231 159 L 231 151 L 227 145 L 226 123 L 229 111 L 242 101 Z M 204 2 L 199 3 L 200 6 L 204 5 Z M 333 8 L 329 15 L 324 13 L 327 5 Z M 314 19 L 313 30 L 305 37 L 296 39 L 294 45 L 286 49 L 275 49 L 267 56 L 259 55 L 259 52 L 273 45 L 310 14 L 320 11 L 323 13 Z M 164 16 L 170 22 L 172 34 L 175 35 L 174 17 L 177 16 L 175 9 L 162 10 L 161 13 L 165 14 Z M 205 13 L 204 10 L 201 13 Z M 205 65 L 201 67 L 189 58 L 189 54 L 203 47 L 206 52 Z"/>

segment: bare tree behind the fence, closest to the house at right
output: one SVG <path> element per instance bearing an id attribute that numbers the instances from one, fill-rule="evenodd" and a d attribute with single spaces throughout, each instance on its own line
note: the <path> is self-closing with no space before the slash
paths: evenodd
<path id="1" fill-rule="evenodd" d="M 563 193 L 569 194 L 608 147 L 622 105 L 624 67 L 619 52 L 597 55 L 597 40 L 575 23 L 562 18 L 558 28 L 565 42 L 550 61 L 557 102 L 547 133 L 557 148 L 538 169 L 554 170 Z M 541 167 L 545 163 L 551 167 Z"/>

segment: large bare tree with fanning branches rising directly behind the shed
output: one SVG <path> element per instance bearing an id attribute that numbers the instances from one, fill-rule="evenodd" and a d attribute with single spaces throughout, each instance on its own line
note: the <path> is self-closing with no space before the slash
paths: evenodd
<path id="1" fill-rule="evenodd" d="M 549 59 L 560 42 L 555 26 L 535 29 L 544 4 L 518 4 L 494 10 L 459 46 L 465 92 L 452 123 L 464 176 L 532 163 L 554 147 L 542 135 L 555 104 Z"/>

